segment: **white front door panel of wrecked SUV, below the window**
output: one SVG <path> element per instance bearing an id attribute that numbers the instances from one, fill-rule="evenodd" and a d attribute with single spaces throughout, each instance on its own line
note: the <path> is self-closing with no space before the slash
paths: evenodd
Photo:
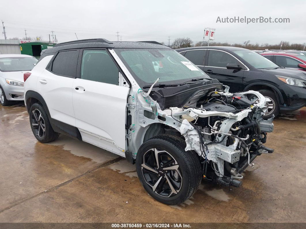
<path id="1" fill-rule="evenodd" d="M 120 155 L 125 154 L 122 150 L 125 150 L 128 94 L 128 87 L 75 79 L 73 108 L 76 127 L 83 141 Z"/>

